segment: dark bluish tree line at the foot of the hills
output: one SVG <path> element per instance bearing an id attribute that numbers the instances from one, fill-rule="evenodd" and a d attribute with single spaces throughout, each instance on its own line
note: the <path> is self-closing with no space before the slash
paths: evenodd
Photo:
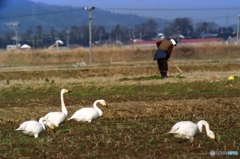
<path id="1" fill-rule="evenodd" d="M 158 23 L 153 19 L 136 24 L 132 28 L 116 24 L 108 31 L 104 25 L 93 25 L 92 42 L 96 45 L 112 45 L 117 44 L 116 42 L 127 44 L 133 39 L 150 40 L 156 38 L 159 32 L 163 33 L 166 38 L 172 35 L 198 38 L 208 34 L 218 34 L 226 38 L 234 32 L 233 28 L 219 27 L 214 22 L 193 24 L 190 18 L 176 18 L 168 22 L 162 30 L 159 30 L 159 27 Z M 49 31 L 44 31 L 43 27 L 38 25 L 35 28 L 30 27 L 18 33 L 18 36 L 16 36 L 16 32 L 14 31 L 7 31 L 0 38 L 0 47 L 6 48 L 6 45 L 15 44 L 17 40 L 18 43 L 28 44 L 33 48 L 45 48 L 54 44 L 58 39 L 62 40 L 66 46 L 69 44 L 78 44 L 84 47 L 89 46 L 89 26 L 72 26 L 70 29 L 60 31 L 52 27 Z"/>

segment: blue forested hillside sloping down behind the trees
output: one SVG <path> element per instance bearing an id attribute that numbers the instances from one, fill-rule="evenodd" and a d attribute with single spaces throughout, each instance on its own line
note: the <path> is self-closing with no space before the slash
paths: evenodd
<path id="1" fill-rule="evenodd" d="M 148 18 L 137 15 L 117 14 L 95 8 L 92 11 L 93 25 L 103 25 L 107 29 L 119 24 L 133 27 Z M 155 19 L 163 24 L 163 20 Z M 27 30 L 41 25 L 44 30 L 54 27 L 56 30 L 68 29 L 71 26 L 88 25 L 88 12 L 83 7 L 46 5 L 29 0 L 3 0 L 0 3 L 0 31 L 12 30 L 6 24 L 19 22 L 19 30 Z"/>

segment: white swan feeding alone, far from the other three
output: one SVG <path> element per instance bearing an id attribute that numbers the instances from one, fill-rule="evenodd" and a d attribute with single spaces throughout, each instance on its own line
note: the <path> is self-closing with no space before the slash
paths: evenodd
<path id="1" fill-rule="evenodd" d="M 206 128 L 207 136 L 215 139 L 214 133 L 209 129 L 209 124 L 205 120 L 200 120 L 197 124 L 192 121 L 179 121 L 172 127 L 169 133 L 173 134 L 176 138 L 190 139 L 193 141 L 194 137 L 202 132 L 203 125 Z"/>

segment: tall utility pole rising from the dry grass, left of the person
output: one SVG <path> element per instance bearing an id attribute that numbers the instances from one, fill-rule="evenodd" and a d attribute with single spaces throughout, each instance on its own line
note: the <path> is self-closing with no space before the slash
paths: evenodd
<path id="1" fill-rule="evenodd" d="M 88 11 L 88 26 L 89 26 L 89 64 L 92 63 L 92 10 L 95 7 L 85 7 L 85 10 Z"/>

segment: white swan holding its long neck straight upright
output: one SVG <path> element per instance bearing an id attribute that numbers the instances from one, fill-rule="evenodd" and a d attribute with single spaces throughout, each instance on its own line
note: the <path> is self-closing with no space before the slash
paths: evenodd
<path id="1" fill-rule="evenodd" d="M 58 127 L 59 124 L 64 122 L 65 119 L 67 118 L 68 111 L 64 103 L 63 94 L 68 92 L 71 92 L 71 91 L 67 89 L 62 89 L 60 93 L 62 112 L 49 112 L 44 116 L 44 118 L 50 120 L 56 127 Z"/>

